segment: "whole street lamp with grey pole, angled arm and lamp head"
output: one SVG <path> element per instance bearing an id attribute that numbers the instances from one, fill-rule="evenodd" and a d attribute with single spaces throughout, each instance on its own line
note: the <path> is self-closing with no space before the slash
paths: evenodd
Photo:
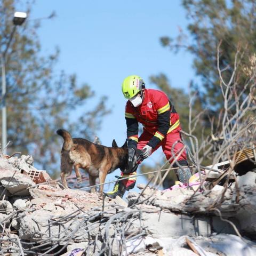
<path id="1" fill-rule="evenodd" d="M 1 53 L 1 66 L 2 66 L 2 151 L 3 154 L 6 154 L 6 144 L 7 144 L 7 115 L 6 115 L 6 77 L 5 77 L 5 56 L 7 50 L 11 44 L 13 35 L 15 33 L 16 27 L 22 25 L 22 23 L 26 20 L 27 13 L 26 12 L 15 12 L 13 16 L 13 24 L 14 27 L 12 29 L 11 36 L 6 45 L 5 51 Z"/>

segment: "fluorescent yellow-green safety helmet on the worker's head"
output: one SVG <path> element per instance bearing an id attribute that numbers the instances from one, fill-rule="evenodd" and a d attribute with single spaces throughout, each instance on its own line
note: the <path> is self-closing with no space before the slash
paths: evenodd
<path id="1" fill-rule="evenodd" d="M 122 84 L 122 92 L 126 99 L 132 98 L 143 88 L 145 88 L 145 83 L 141 77 L 133 75 L 124 78 L 124 82 Z"/>

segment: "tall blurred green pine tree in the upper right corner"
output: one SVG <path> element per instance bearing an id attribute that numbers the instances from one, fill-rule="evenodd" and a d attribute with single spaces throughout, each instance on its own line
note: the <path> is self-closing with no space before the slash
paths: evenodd
<path id="1" fill-rule="evenodd" d="M 227 81 L 233 73 L 237 50 L 239 70 L 235 77 L 241 88 L 248 79 L 246 70 L 255 57 L 255 0 L 183 0 L 188 18 L 188 33 L 177 38 L 162 37 L 164 46 L 172 51 L 186 49 L 194 55 L 196 75 L 201 78 L 201 101 L 206 108 L 218 113 L 222 108 L 222 92 L 217 69 L 217 46 L 221 43 L 220 69 Z M 237 89 L 239 93 L 239 88 Z"/>

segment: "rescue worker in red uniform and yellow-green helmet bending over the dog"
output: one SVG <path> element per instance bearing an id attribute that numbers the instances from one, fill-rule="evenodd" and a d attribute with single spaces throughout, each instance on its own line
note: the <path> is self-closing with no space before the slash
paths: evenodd
<path id="1" fill-rule="evenodd" d="M 180 142 L 179 114 L 164 92 L 145 89 L 143 79 L 136 75 L 124 79 L 122 92 L 124 97 L 128 99 L 125 106 L 125 119 L 129 168 L 126 173 L 121 172 L 121 177 L 116 177 L 127 177 L 128 179 L 117 181 L 113 191 L 106 193 L 111 198 L 115 198 L 117 195 L 123 197 L 126 190 L 135 186 L 136 178 L 132 176 L 136 174 L 133 167 L 138 157 L 135 154 L 137 149 L 142 150 L 140 156 L 142 159 L 146 159 L 155 150 L 162 147 L 166 159 L 169 160 L 172 157 L 172 152 L 176 156 L 183 147 Z M 138 122 L 143 125 L 143 133 L 139 138 Z M 178 164 L 174 164 L 174 166 L 188 166 L 185 150 L 180 154 L 177 162 Z M 182 183 L 188 182 L 191 177 L 191 171 L 188 167 L 179 168 L 176 174 Z"/>

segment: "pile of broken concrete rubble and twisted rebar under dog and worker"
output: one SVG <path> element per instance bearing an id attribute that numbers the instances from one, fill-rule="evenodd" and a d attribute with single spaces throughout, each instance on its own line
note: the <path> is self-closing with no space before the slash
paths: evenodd
<path id="1" fill-rule="evenodd" d="M 0 157 L 1 255 L 256 255 L 256 173 L 126 201 L 63 189 L 30 156 Z"/>

